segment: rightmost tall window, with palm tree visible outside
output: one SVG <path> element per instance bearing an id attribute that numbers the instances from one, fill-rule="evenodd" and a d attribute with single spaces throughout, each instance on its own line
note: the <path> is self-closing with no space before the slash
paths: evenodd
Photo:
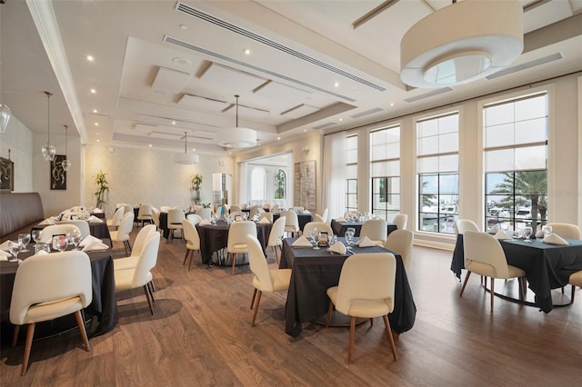
<path id="1" fill-rule="evenodd" d="M 547 219 L 547 93 L 483 109 L 487 226 L 534 232 Z"/>

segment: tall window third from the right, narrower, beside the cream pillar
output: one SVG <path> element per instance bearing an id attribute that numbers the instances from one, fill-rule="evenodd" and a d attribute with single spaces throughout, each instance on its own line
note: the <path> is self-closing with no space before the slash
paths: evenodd
<path id="1" fill-rule="evenodd" d="M 372 213 L 388 222 L 400 212 L 400 126 L 370 133 Z"/>

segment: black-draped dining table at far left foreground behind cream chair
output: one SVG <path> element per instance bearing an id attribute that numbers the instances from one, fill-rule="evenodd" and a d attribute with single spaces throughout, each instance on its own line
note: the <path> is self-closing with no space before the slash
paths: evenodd
<path id="1" fill-rule="evenodd" d="M 115 312 L 117 303 L 115 301 L 115 273 L 114 260 L 111 253 L 112 242 L 110 239 L 103 239 L 103 243 L 109 246 L 106 250 L 95 250 L 85 252 L 91 262 L 91 285 L 93 300 L 85 308 L 85 325 L 87 335 L 95 337 L 105 332 L 110 332 L 115 327 Z M 25 260 L 34 254 L 35 245 L 30 243 L 27 246 L 28 252 L 18 254 L 18 258 Z M 67 248 L 71 250 L 72 247 Z M 15 282 L 17 262 L 0 261 L 0 326 L 1 342 L 10 342 L 14 326 L 10 323 L 10 303 L 12 299 L 12 288 Z M 76 321 L 73 315 L 59 317 L 55 320 L 37 323 L 35 328 L 35 339 L 52 336 L 65 332 L 75 327 Z M 20 330 L 22 339 L 26 330 Z"/>

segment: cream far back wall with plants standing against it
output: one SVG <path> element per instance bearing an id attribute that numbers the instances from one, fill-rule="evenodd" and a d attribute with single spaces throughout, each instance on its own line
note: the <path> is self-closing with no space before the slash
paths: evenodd
<path id="1" fill-rule="evenodd" d="M 203 177 L 202 203 L 212 203 L 212 174 L 234 174 L 229 156 L 199 154 L 199 164 L 183 165 L 174 163 L 175 152 L 121 146 L 113 150 L 103 145 L 85 146 L 85 205 L 95 206 L 95 174 L 101 170 L 109 184 L 108 217 L 113 215 L 116 203 L 186 207 L 192 204 L 190 180 L 196 173 Z"/>

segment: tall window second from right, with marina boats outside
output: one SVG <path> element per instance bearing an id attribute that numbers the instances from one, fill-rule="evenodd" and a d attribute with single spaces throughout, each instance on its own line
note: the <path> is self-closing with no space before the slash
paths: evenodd
<path id="1" fill-rule="evenodd" d="M 458 112 L 416 122 L 418 229 L 455 233 L 458 218 Z"/>

